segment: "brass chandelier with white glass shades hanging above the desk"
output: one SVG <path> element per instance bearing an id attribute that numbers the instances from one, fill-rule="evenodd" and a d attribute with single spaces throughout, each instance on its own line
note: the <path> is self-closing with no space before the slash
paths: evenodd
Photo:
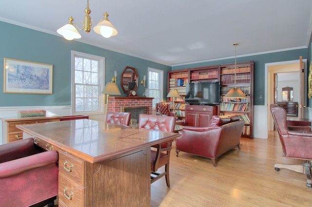
<path id="1" fill-rule="evenodd" d="M 74 22 L 73 17 L 71 16 L 69 22 L 59 28 L 57 32 L 62 35 L 67 40 L 78 39 L 81 38 L 81 35 L 78 33 L 75 26 L 78 30 L 84 30 L 87 34 L 91 31 L 92 23 L 94 20 L 91 20 L 89 14 L 91 10 L 89 8 L 89 0 L 87 0 L 87 7 L 84 9 L 86 15 L 84 16 L 84 20 L 81 21 L 82 28 L 80 29 L 78 25 Z M 108 13 L 104 13 L 104 18 L 99 20 L 98 24 L 93 28 L 93 30 L 104 38 L 110 38 L 112 36 L 117 35 L 117 30 L 113 26 L 113 24 L 108 20 Z"/>

